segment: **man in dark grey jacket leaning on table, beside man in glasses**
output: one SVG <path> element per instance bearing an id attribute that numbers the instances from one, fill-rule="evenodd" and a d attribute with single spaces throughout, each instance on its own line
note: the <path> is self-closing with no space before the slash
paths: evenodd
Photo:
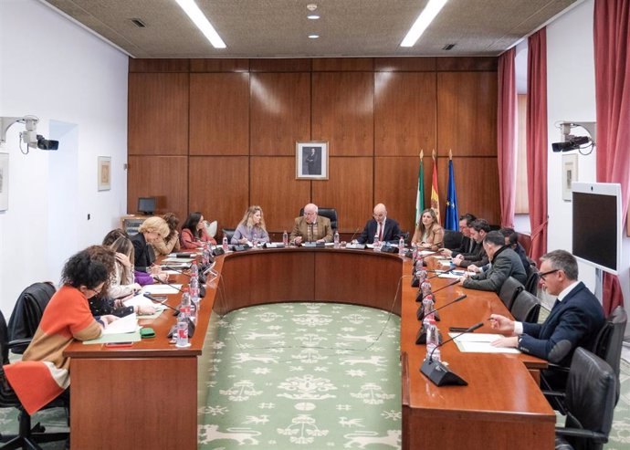
<path id="1" fill-rule="evenodd" d="M 505 237 L 499 231 L 490 231 L 483 240 L 483 246 L 489 260 L 492 261 L 492 266 L 478 275 L 461 277 L 464 288 L 499 292 L 509 277 L 515 277 L 525 284 L 527 275 L 520 257 L 505 245 Z"/>

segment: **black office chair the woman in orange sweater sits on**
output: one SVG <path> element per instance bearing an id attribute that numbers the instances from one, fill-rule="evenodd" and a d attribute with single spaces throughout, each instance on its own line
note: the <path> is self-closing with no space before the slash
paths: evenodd
<path id="1" fill-rule="evenodd" d="M 0 355 L 2 355 L 2 366 L 9 364 L 9 350 L 13 350 L 16 346 L 23 346 L 30 342 L 30 339 L 26 340 L 14 340 L 8 341 L 8 330 L 6 328 L 5 316 L 0 311 Z M 41 450 L 38 444 L 46 442 L 63 441 L 68 439 L 68 432 L 56 432 L 46 433 L 46 428 L 41 424 L 36 424 L 31 427 L 31 416 L 26 413 L 26 410 L 22 407 L 19 399 L 16 396 L 11 385 L 7 382 L 5 377 L 5 370 L 0 366 L 0 408 L 16 408 L 19 411 L 19 431 L 16 435 L 2 435 L 3 445 L 0 446 L 2 450 L 26 448 L 29 450 Z M 33 389 L 37 389 L 37 386 L 33 386 Z M 64 397 L 58 397 L 51 403 L 48 403 L 42 409 L 63 407 L 68 411 L 68 403 Z"/>

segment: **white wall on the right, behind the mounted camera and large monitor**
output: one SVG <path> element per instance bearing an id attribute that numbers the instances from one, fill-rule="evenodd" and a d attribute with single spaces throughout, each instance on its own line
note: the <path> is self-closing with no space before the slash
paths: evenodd
<path id="1" fill-rule="evenodd" d="M 551 152 L 560 141 L 554 126 L 559 120 L 595 121 L 595 68 L 593 59 L 593 0 L 587 0 L 547 26 L 547 89 L 549 120 L 548 248 L 572 247 L 572 204 L 562 201 L 562 155 Z M 576 133 L 577 134 L 577 133 Z M 595 154 L 578 157 L 579 182 L 595 181 Z M 624 233 L 625 235 L 625 233 Z M 620 281 L 624 298 L 630 298 L 630 238 L 624 237 L 624 262 Z M 580 277 L 594 289 L 592 267 L 580 264 Z"/>

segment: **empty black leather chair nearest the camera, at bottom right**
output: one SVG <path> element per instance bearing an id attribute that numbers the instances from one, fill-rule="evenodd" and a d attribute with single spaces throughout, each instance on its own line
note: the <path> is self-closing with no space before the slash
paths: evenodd
<path id="1" fill-rule="evenodd" d="M 613 426 L 617 380 L 610 365 L 590 351 L 573 353 L 566 389 L 567 418 L 556 427 L 557 450 L 599 450 Z"/>

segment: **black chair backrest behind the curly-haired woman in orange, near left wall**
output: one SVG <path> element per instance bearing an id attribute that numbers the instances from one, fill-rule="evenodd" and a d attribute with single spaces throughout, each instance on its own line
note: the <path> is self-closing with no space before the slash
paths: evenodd
<path id="1" fill-rule="evenodd" d="M 8 327 L 8 340 L 29 339 L 35 335 L 44 309 L 55 294 L 55 287 L 50 283 L 34 283 L 24 289 L 17 298 L 16 307 L 11 313 Z M 27 345 L 13 349 L 23 353 Z"/>

